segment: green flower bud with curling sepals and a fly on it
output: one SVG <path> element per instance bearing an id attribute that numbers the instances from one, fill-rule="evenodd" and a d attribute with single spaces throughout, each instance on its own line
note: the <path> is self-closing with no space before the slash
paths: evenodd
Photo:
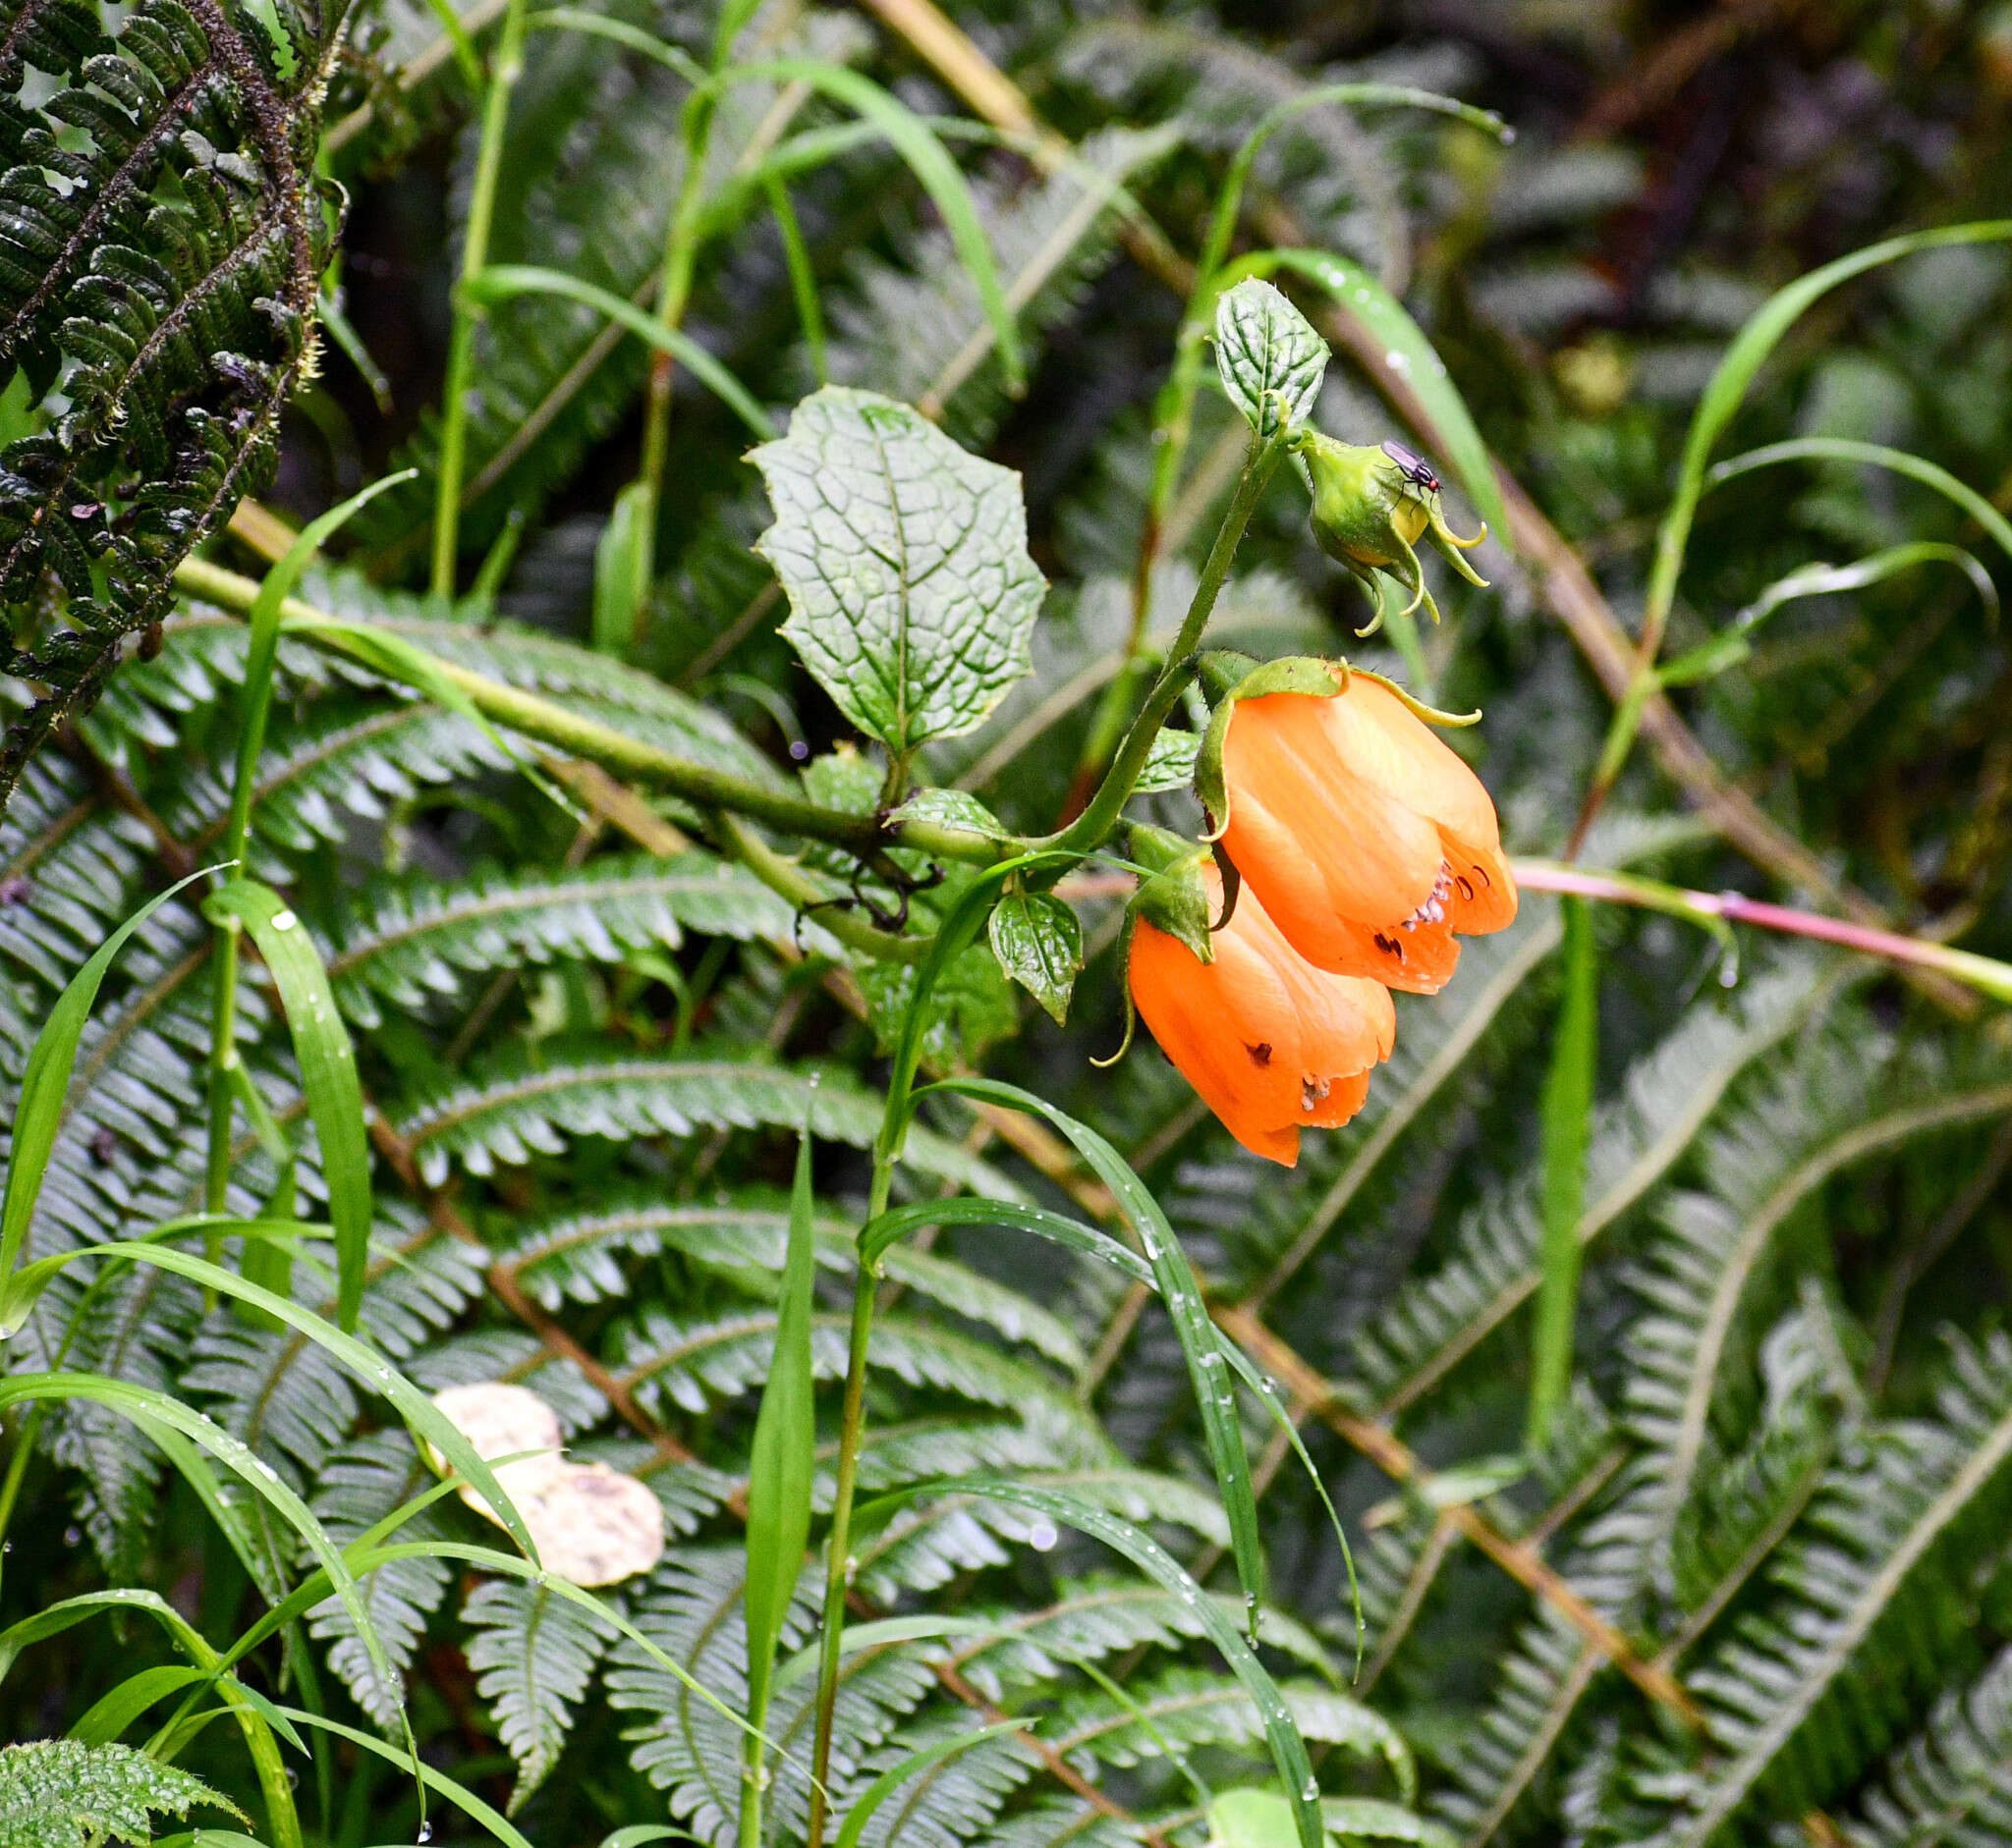
<path id="1" fill-rule="evenodd" d="M 1402 442 L 1336 442 L 1318 430 L 1300 430 L 1294 448 L 1314 481 L 1314 537 L 1320 549 L 1346 565 L 1376 603 L 1376 615 L 1358 633 L 1372 635 L 1382 623 L 1378 571 L 1388 571 L 1410 591 L 1406 615 L 1422 603 L 1433 621 L 1439 621 L 1439 605 L 1424 587 L 1418 553 L 1412 551 L 1420 539 L 1429 539 L 1469 583 L 1487 583 L 1465 553 L 1487 539 L 1489 529 L 1461 539 L 1447 525 L 1439 505 L 1439 477 L 1424 456 L 1412 454 Z"/>

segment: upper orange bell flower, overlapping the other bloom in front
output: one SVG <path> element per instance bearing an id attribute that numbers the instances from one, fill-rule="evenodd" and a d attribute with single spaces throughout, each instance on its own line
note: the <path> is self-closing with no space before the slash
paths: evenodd
<path id="1" fill-rule="evenodd" d="M 1223 738 L 1223 847 L 1318 969 L 1431 995 L 1461 947 L 1515 919 L 1495 804 L 1390 688 L 1239 700 Z"/>

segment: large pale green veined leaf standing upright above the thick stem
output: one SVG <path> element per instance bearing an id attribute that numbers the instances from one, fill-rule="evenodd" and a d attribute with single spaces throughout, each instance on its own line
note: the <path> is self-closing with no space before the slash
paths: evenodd
<path id="1" fill-rule="evenodd" d="M 843 386 L 805 398 L 752 460 L 775 503 L 754 549 L 789 595 L 783 633 L 839 710 L 895 756 L 982 724 L 1032 670 L 1046 593 L 1020 479 Z"/>

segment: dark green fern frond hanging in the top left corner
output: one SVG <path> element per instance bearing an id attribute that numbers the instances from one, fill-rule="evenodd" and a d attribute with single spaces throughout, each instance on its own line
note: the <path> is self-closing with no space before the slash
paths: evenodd
<path id="1" fill-rule="evenodd" d="M 66 404 L 0 454 L 10 672 L 48 688 L 0 750 L 0 796 L 272 475 L 316 352 L 338 201 L 312 165 L 344 22 L 292 0 L 149 0 L 117 32 L 78 0 L 6 8 L 0 364 L 32 398 L 60 370 Z M 36 109 L 30 66 L 60 84 Z"/>

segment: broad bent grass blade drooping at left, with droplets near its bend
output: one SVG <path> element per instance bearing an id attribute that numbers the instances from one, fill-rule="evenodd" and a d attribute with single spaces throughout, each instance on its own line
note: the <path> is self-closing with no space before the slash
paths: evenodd
<path id="1" fill-rule="evenodd" d="M 336 1325 L 354 1333 L 370 1263 L 370 1142 L 350 1030 L 336 1007 L 322 953 L 270 885 L 233 879 L 209 895 L 203 911 L 217 923 L 235 919 L 252 933 L 280 989 L 308 1114 L 322 1144 L 328 1221 L 336 1235 Z"/>

